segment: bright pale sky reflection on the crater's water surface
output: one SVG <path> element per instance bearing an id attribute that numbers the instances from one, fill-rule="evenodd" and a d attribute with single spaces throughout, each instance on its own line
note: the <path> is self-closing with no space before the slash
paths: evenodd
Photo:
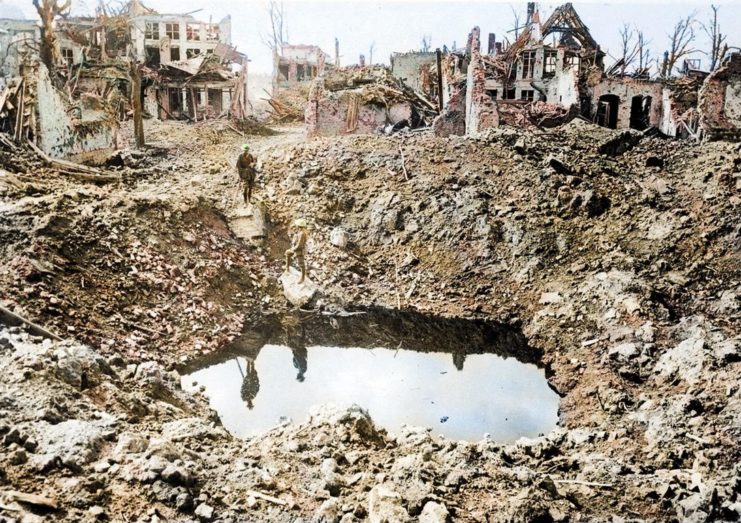
<path id="1" fill-rule="evenodd" d="M 301 336 L 294 332 L 295 343 Z M 302 422 L 311 407 L 328 403 L 358 404 L 388 430 L 407 424 L 467 440 L 484 433 L 498 441 L 536 436 L 557 421 L 558 396 L 543 371 L 494 354 L 466 359 L 296 343 L 265 345 L 235 359 L 237 369 L 228 360 L 217 363 L 184 376 L 183 387 L 205 386 L 211 406 L 237 436 L 264 432 L 281 417 Z"/>

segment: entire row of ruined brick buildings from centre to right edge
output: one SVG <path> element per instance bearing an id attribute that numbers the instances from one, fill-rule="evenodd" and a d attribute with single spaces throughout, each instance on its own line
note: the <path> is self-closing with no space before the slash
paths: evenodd
<path id="1" fill-rule="evenodd" d="M 441 136 L 500 125 L 553 127 L 577 116 L 612 129 L 655 128 L 677 138 L 739 132 L 737 55 L 713 74 L 688 61 L 679 78 L 626 74 L 619 62 L 606 69 L 605 52 L 570 3 L 545 22 L 529 3 L 515 41 L 499 42 L 489 34 L 486 51 L 475 27 L 464 50 L 394 53 L 389 68 L 361 64 L 326 75 L 304 69 L 308 73 L 299 81 L 295 58 L 280 59 L 277 85 L 304 85 L 317 76 L 306 110 L 310 136 L 413 128 L 424 121 L 420 113 L 439 113 L 432 125 Z M 389 88 L 396 95 L 379 95 Z"/>

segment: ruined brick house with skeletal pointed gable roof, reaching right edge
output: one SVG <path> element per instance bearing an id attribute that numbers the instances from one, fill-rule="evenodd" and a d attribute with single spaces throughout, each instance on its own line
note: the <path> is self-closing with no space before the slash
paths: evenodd
<path id="1" fill-rule="evenodd" d="M 544 23 L 530 3 L 526 26 L 512 45 L 505 48 L 490 34 L 483 54 L 476 27 L 464 53 L 446 56 L 445 110 L 435 131 L 548 127 L 582 116 L 612 129 L 654 127 L 673 137 L 738 135 L 737 55 L 709 76 L 687 64 L 679 79 L 605 71 L 604 56 L 570 3 Z"/>

